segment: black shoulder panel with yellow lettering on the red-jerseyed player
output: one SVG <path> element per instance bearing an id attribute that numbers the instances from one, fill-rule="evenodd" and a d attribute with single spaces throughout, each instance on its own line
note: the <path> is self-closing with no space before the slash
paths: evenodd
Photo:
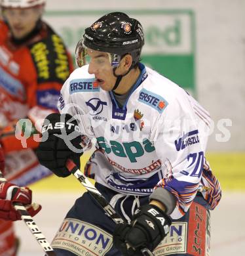
<path id="1" fill-rule="evenodd" d="M 39 40 L 28 45 L 38 83 L 63 84 L 70 74 L 70 60 L 62 38 L 43 22 Z"/>

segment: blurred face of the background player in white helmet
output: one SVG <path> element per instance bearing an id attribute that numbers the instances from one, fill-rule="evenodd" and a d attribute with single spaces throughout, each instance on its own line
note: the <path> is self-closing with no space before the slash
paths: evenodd
<path id="1" fill-rule="evenodd" d="M 22 39 L 35 28 L 35 24 L 41 15 L 39 8 L 6 8 L 3 12 L 10 26 L 12 35 L 16 39 Z"/>

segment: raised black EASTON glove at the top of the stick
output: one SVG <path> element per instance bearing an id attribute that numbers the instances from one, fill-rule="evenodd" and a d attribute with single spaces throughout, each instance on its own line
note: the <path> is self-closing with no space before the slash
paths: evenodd
<path id="1" fill-rule="evenodd" d="M 59 177 L 71 173 L 66 168 L 67 159 L 80 167 L 80 156 L 83 154 L 80 129 L 69 114 L 52 113 L 45 118 L 42 129 L 42 141 L 37 148 L 37 158 Z"/>

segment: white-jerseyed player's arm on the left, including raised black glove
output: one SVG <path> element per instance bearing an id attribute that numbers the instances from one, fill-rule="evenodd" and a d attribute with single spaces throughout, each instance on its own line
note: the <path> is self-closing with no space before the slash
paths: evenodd
<path id="1" fill-rule="evenodd" d="M 82 74 L 82 70 L 77 69 L 64 83 L 58 100 L 60 114 L 46 117 L 42 140 L 37 148 L 39 162 L 59 177 L 71 174 L 66 168 L 67 159 L 71 158 L 79 167 L 83 151 L 91 146 L 90 120 L 82 106 L 85 101 L 79 99 L 77 104 L 69 92 L 70 81 Z"/>

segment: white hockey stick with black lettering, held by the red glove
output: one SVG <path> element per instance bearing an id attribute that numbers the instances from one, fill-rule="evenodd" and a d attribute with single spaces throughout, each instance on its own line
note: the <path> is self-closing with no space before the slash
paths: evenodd
<path id="1" fill-rule="evenodd" d="M 0 170 L 0 182 L 7 182 L 5 177 L 3 177 L 3 173 Z M 56 256 L 54 253 L 54 250 L 52 249 L 51 245 L 48 243 L 47 239 L 45 238 L 44 234 L 41 232 L 37 224 L 33 221 L 31 215 L 29 215 L 28 211 L 26 210 L 26 207 L 22 205 L 22 203 L 13 203 L 14 209 L 20 213 L 21 219 L 26 223 L 29 230 L 31 231 L 31 234 L 35 236 L 37 239 L 37 242 L 41 247 L 43 248 L 43 251 L 45 251 L 47 256 Z"/>

